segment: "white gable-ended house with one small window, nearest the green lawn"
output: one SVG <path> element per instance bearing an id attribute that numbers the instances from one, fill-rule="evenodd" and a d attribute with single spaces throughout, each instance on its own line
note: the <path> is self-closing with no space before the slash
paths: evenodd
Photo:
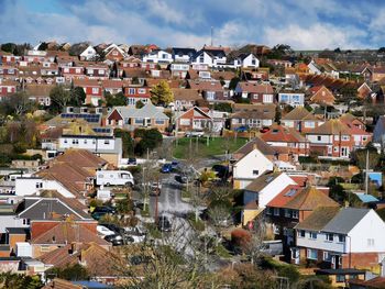
<path id="1" fill-rule="evenodd" d="M 234 188 L 244 189 L 254 179 L 273 168 L 273 162 L 254 148 L 233 165 Z"/>

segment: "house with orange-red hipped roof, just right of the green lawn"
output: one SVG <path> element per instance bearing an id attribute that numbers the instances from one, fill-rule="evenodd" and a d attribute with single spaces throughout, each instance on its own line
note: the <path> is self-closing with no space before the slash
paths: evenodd
<path id="1" fill-rule="evenodd" d="M 287 151 L 290 160 L 298 162 L 299 156 L 309 155 L 309 142 L 299 132 L 283 125 L 272 125 L 271 130 L 261 135 L 267 144 Z"/>

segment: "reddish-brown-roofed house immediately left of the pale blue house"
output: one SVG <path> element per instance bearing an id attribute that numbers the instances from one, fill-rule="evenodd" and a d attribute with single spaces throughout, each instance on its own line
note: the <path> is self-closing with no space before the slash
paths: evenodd
<path id="1" fill-rule="evenodd" d="M 234 93 L 252 103 L 274 103 L 274 89 L 271 85 L 238 82 Z"/>

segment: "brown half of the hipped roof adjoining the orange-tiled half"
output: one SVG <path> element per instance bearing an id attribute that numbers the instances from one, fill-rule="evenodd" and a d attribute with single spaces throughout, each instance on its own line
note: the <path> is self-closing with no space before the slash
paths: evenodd
<path id="1" fill-rule="evenodd" d="M 284 208 L 312 211 L 318 207 L 339 207 L 339 204 L 315 187 L 308 187 L 289 200 Z"/>

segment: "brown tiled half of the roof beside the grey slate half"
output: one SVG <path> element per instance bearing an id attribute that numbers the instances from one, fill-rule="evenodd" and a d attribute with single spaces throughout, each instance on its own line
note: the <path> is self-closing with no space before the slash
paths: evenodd
<path id="1" fill-rule="evenodd" d="M 339 207 L 318 207 L 312 213 L 295 226 L 297 230 L 321 231 L 338 214 Z"/>

